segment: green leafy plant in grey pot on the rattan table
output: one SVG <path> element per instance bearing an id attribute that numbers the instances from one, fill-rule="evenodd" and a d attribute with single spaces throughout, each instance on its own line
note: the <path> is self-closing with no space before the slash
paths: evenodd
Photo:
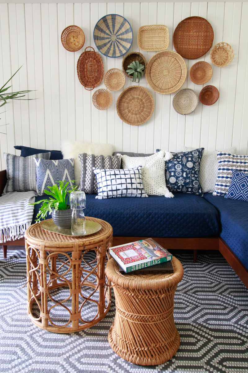
<path id="1" fill-rule="evenodd" d="M 41 219 L 46 218 L 47 214 L 52 214 L 52 220 L 55 225 L 59 228 L 70 228 L 72 211 L 70 205 L 67 204 L 67 194 L 77 190 L 77 186 L 69 186 L 69 182 L 65 184 L 64 181 L 58 181 L 57 184 L 48 186 L 49 191 L 44 190 L 45 194 L 50 195 L 49 199 L 32 203 L 36 205 L 42 202 L 35 221 L 40 222 Z"/>

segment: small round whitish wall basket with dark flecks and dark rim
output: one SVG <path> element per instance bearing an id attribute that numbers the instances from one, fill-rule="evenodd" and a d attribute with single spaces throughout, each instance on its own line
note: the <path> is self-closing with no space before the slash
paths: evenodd
<path id="1" fill-rule="evenodd" d="M 172 106 L 181 115 L 193 113 L 198 106 L 197 93 L 190 88 L 182 88 L 173 97 Z"/>

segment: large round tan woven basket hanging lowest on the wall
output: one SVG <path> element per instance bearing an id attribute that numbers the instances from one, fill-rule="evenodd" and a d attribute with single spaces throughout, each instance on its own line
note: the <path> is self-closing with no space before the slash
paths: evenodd
<path id="1" fill-rule="evenodd" d="M 119 95 L 116 110 L 123 122 L 139 126 L 152 116 L 154 99 L 146 88 L 131 85 Z"/>

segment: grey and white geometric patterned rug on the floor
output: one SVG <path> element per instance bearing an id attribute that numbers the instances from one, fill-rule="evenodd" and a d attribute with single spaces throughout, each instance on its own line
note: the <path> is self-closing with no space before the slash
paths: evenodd
<path id="1" fill-rule="evenodd" d="M 174 319 L 180 347 L 167 363 L 142 367 L 110 348 L 107 334 L 115 300 L 99 324 L 78 333 L 56 334 L 29 320 L 26 258 L 0 250 L 0 373 L 247 373 L 248 289 L 219 253 L 174 254 L 184 277 L 175 293 Z M 16 306 L 17 305 L 17 306 Z"/>

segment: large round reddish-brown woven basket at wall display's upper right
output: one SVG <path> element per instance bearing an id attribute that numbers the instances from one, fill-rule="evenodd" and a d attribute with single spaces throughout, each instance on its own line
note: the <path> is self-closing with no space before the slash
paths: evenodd
<path id="1" fill-rule="evenodd" d="M 213 44 L 213 28 L 202 17 L 189 17 L 178 23 L 173 45 L 182 57 L 194 60 L 204 56 Z"/>

